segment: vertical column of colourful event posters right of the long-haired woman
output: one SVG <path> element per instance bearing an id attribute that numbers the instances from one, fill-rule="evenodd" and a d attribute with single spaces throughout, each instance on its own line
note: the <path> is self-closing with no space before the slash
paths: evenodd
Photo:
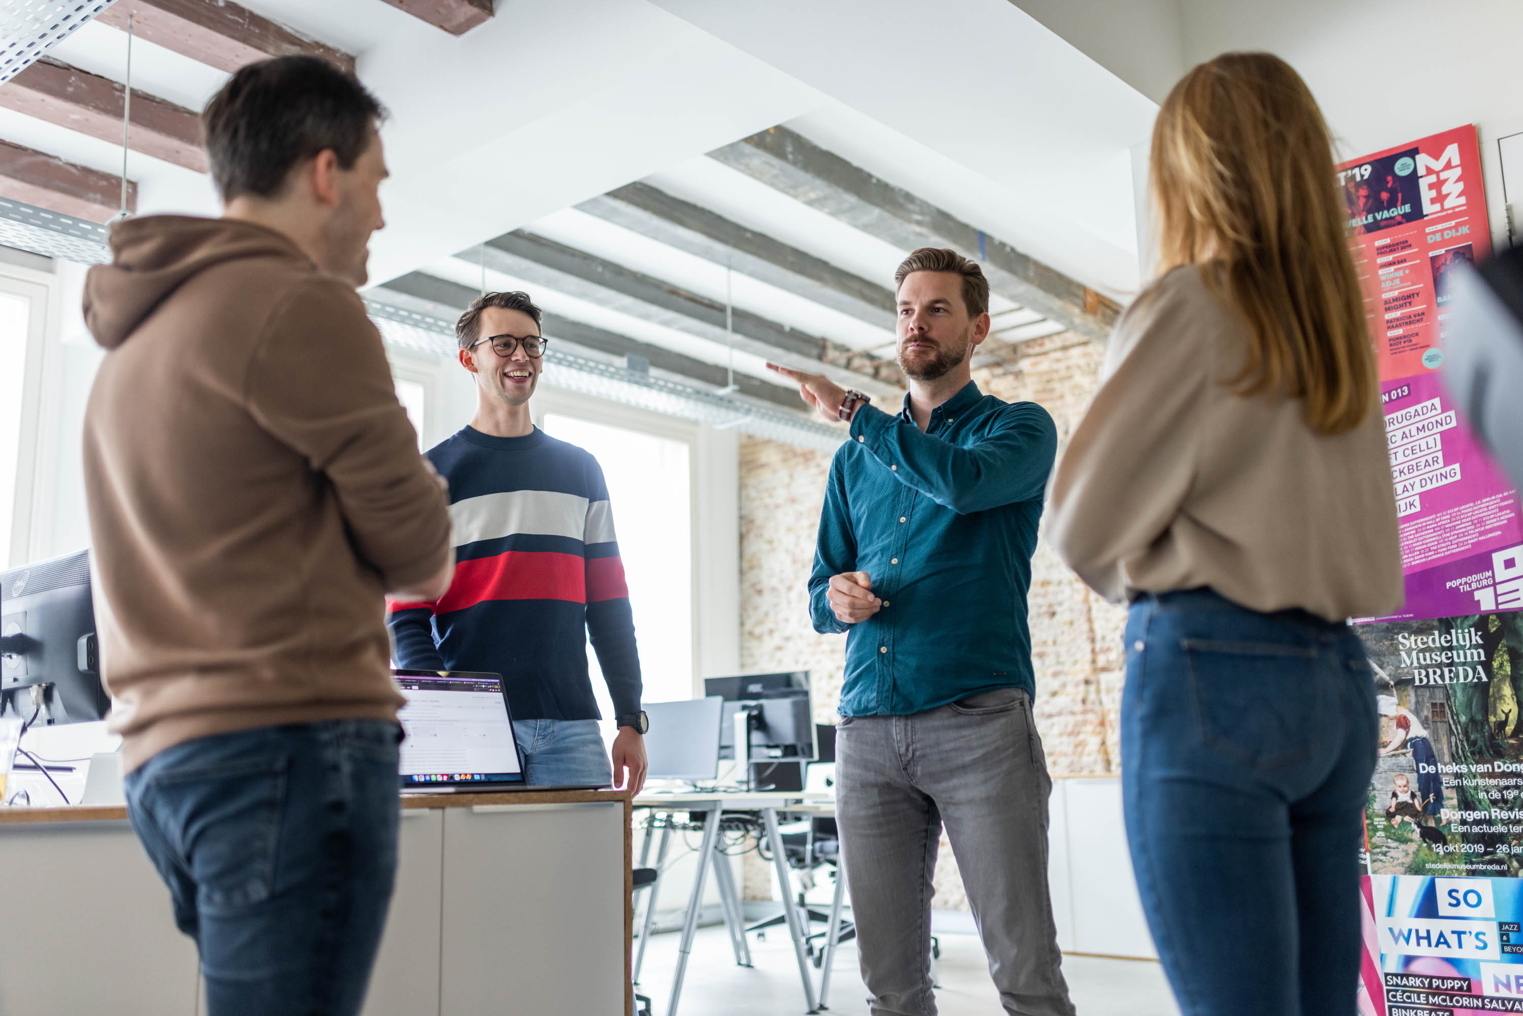
<path id="1" fill-rule="evenodd" d="M 1441 387 L 1445 276 L 1491 254 L 1473 126 L 1339 166 L 1380 363 L 1406 605 L 1380 705 L 1363 1014 L 1523 1013 L 1523 512 Z"/>

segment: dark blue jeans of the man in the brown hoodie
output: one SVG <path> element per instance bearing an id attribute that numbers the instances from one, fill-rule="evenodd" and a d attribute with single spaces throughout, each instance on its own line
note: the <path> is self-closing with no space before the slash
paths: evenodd
<path id="1" fill-rule="evenodd" d="M 396 874 L 382 720 L 219 734 L 125 780 L 128 815 L 201 952 L 210 1016 L 352 1016 Z"/>

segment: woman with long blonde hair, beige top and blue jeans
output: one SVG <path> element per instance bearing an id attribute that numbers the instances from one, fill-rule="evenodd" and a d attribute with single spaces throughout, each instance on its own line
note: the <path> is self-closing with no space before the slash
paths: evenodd
<path id="1" fill-rule="evenodd" d="M 1375 355 L 1327 123 L 1228 53 L 1159 110 L 1159 274 L 1052 480 L 1051 538 L 1129 600 L 1127 839 L 1188 1016 L 1348 1016 L 1375 765 L 1346 618 L 1401 603 Z"/>

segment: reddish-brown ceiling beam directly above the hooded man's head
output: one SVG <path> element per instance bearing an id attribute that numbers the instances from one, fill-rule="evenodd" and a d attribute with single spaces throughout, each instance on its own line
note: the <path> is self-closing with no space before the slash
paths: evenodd
<path id="1" fill-rule="evenodd" d="M 271 21 L 231 0 L 120 0 L 96 15 L 102 24 L 126 30 L 181 56 L 235 72 L 271 56 L 305 53 L 329 59 L 349 73 L 355 58 Z"/>

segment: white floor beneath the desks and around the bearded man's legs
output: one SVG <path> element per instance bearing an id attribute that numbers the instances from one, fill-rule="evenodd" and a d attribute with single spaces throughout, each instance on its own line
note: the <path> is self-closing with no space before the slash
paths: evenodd
<path id="1" fill-rule="evenodd" d="M 679 935 L 650 937 L 638 992 L 649 995 L 655 1016 L 667 1016 Z M 999 998 L 988 979 L 984 949 L 973 935 L 940 935 L 941 1016 L 999 1016 Z M 768 932 L 766 941 L 749 937 L 752 969 L 737 967 L 722 926 L 702 928 L 687 964 L 679 1013 L 684 1016 L 786 1016 L 804 1013 L 804 989 L 786 929 Z M 638 944 L 638 943 L 637 943 Z M 819 973 L 815 975 L 818 990 Z M 1174 998 L 1156 963 L 1065 957 L 1063 973 L 1080 1016 L 1179 1016 Z M 856 949 L 836 952 L 830 1013 L 865 1016 L 865 990 L 857 975 Z"/>

